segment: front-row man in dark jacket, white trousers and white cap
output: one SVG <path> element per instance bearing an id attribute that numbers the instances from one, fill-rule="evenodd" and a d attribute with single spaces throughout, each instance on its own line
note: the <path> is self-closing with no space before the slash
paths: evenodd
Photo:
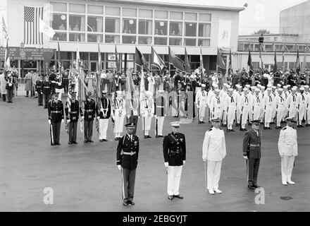
<path id="1" fill-rule="evenodd" d="M 168 174 L 168 199 L 183 198 L 179 193 L 182 166 L 186 160 L 185 135 L 179 133 L 180 121 L 171 122 L 172 133 L 163 138 L 163 159 Z"/>

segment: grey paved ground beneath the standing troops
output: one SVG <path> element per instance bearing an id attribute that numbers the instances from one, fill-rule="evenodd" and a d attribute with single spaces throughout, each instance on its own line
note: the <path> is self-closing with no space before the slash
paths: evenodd
<path id="1" fill-rule="evenodd" d="M 24 93 L 23 93 L 24 95 Z M 65 100 L 65 98 L 63 98 Z M 166 117 L 164 133 L 169 132 Z M 154 123 L 154 119 L 152 121 Z M 153 127 L 154 128 L 154 127 Z M 80 129 L 80 128 L 78 128 Z M 121 200 L 121 177 L 116 167 L 116 146 L 109 124 L 109 142 L 84 144 L 77 133 L 77 145 L 68 145 L 65 125 L 61 146 L 51 146 L 47 111 L 36 98 L 16 97 L 13 104 L 0 101 L 0 211 L 309 211 L 310 129 L 298 129 L 299 155 L 295 161 L 293 186 L 283 186 L 278 155 L 279 130 L 263 131 L 259 185 L 264 204 L 257 205 L 254 191 L 247 189 L 246 165 L 242 158 L 244 132 L 225 133 L 227 156 L 223 161 L 220 189 L 211 196 L 204 186 L 202 142 L 209 124 L 182 125 L 187 141 L 187 162 L 183 167 L 180 194 L 183 200 L 168 201 L 162 138 L 140 136 L 136 206 L 125 208 Z M 154 131 L 151 131 L 154 137 Z M 54 191 L 54 204 L 45 205 L 44 188 Z M 262 193 L 260 193 L 262 194 Z M 259 199 L 259 198 L 256 198 Z"/>

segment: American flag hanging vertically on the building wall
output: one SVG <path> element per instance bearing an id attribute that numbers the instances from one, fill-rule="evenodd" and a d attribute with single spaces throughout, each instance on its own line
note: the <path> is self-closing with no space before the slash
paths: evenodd
<path id="1" fill-rule="evenodd" d="M 43 20 L 43 7 L 24 6 L 25 44 L 43 44 L 43 34 L 39 32 L 39 19 Z"/>

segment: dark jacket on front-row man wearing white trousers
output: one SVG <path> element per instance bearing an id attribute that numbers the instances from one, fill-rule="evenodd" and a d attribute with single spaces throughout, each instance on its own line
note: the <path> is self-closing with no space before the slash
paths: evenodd
<path id="1" fill-rule="evenodd" d="M 186 160 L 186 143 L 183 133 L 169 133 L 163 138 L 163 158 L 170 166 L 183 165 L 183 160 Z"/>

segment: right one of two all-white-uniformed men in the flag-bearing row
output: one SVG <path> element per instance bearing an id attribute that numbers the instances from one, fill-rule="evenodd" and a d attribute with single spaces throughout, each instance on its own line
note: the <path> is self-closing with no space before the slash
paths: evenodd
<path id="1" fill-rule="evenodd" d="M 151 138 L 149 131 L 151 130 L 151 118 L 154 117 L 154 100 L 153 93 L 147 91 L 145 97 L 140 100 L 140 114 L 142 116 L 142 129 L 144 138 Z"/>

